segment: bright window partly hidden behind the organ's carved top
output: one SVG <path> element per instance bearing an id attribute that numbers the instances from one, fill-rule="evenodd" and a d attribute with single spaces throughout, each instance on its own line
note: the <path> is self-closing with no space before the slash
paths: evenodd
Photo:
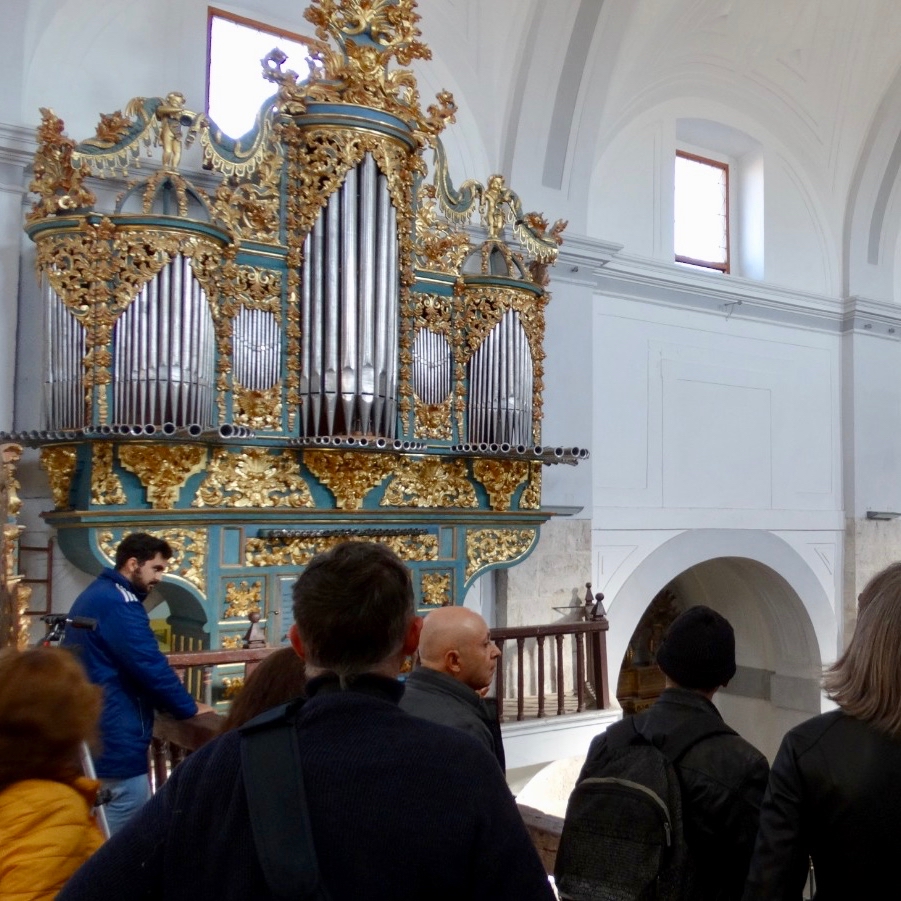
<path id="1" fill-rule="evenodd" d="M 276 90 L 263 78 L 263 57 L 277 47 L 288 57 L 284 69 L 304 78 L 308 66 L 317 65 L 310 54 L 318 46 L 313 38 L 209 7 L 207 115 L 229 137 L 247 134 L 263 101 Z"/>

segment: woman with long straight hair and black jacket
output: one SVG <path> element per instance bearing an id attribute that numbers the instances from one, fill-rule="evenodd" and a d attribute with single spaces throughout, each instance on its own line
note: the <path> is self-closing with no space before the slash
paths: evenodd
<path id="1" fill-rule="evenodd" d="M 883 897 L 901 837 L 901 563 L 858 599 L 847 650 L 823 677 L 838 710 L 788 732 L 770 771 L 745 901 Z"/>

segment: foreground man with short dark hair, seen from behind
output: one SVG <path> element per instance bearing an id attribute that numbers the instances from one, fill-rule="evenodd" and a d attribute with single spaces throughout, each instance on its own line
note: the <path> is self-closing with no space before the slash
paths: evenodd
<path id="1" fill-rule="evenodd" d="M 290 639 L 306 661 L 308 699 L 292 702 L 297 760 L 283 766 L 302 774 L 332 901 L 552 901 L 488 752 L 397 706 L 397 676 L 422 624 L 403 563 L 379 544 L 340 544 L 297 580 L 294 617 Z M 259 773 L 245 775 L 248 740 L 230 732 L 191 754 L 61 901 L 276 897 L 254 842 L 246 781 Z M 295 829 L 290 805 L 270 815 L 280 835 Z M 282 885 L 279 897 L 293 891 Z"/>

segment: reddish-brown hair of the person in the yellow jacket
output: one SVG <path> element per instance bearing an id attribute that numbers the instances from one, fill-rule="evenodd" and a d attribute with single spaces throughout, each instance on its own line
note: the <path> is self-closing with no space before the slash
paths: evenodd
<path id="1" fill-rule="evenodd" d="M 102 689 L 68 651 L 0 651 L 0 791 L 80 775 L 81 743 L 96 742 L 102 703 Z"/>

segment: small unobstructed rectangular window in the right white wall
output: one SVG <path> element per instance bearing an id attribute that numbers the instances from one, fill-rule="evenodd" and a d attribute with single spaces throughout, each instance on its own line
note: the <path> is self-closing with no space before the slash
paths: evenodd
<path id="1" fill-rule="evenodd" d="M 676 151 L 676 262 L 729 272 L 729 166 Z"/>

